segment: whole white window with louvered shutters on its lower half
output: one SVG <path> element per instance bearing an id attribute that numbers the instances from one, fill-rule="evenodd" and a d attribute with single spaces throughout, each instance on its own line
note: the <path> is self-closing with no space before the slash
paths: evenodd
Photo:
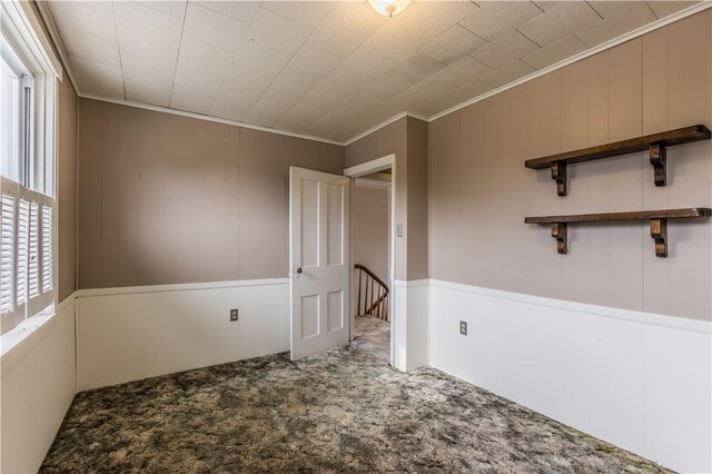
<path id="1" fill-rule="evenodd" d="M 51 308 L 56 75 L 26 28 L 0 8 L 0 330 Z M 50 65 L 51 66 L 51 65 Z"/>

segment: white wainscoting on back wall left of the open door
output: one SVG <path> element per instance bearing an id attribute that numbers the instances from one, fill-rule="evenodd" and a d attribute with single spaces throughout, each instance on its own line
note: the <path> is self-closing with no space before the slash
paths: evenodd
<path id="1" fill-rule="evenodd" d="M 287 278 L 77 296 L 79 392 L 289 349 Z"/>

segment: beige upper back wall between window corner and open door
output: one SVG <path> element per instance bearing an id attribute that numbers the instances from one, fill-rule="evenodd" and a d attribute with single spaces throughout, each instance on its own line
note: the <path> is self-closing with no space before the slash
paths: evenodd
<path id="1" fill-rule="evenodd" d="M 79 288 L 285 277 L 289 166 L 344 148 L 80 99 Z"/>

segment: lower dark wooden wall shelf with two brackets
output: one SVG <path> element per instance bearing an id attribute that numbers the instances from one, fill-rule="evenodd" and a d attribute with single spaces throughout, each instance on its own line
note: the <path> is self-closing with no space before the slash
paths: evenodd
<path id="1" fill-rule="evenodd" d="M 556 250 L 568 253 L 568 224 L 573 223 L 613 223 L 621 220 L 650 220 L 650 235 L 655 240 L 655 255 L 668 257 L 668 219 L 693 219 L 712 216 L 706 207 L 684 209 L 636 210 L 631 213 L 574 214 L 570 216 L 525 217 L 526 224 L 550 224 L 552 237 L 556 239 Z"/>

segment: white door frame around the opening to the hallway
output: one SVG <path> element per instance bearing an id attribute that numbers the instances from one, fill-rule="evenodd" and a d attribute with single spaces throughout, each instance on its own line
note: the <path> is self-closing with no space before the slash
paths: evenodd
<path id="1" fill-rule="evenodd" d="M 388 286 L 389 286 L 389 295 L 388 295 L 388 316 L 389 316 L 389 323 L 390 323 L 390 361 L 389 364 L 393 365 L 394 361 L 395 361 L 395 330 L 396 330 L 396 317 L 398 317 L 396 315 L 396 298 L 395 298 L 395 280 L 396 280 L 396 155 L 395 154 L 390 154 L 390 155 L 386 155 L 385 157 L 380 157 L 380 158 L 376 158 L 373 159 L 370 161 L 366 161 L 364 164 L 360 165 L 356 165 L 353 166 L 350 168 L 346 168 L 344 170 L 344 176 L 352 178 L 350 182 L 349 182 L 349 187 L 352 188 L 352 192 L 350 192 L 350 208 L 352 208 L 352 214 L 349 216 L 349 218 L 352 219 L 350 223 L 350 238 L 349 238 L 349 253 L 350 253 L 350 260 L 352 260 L 352 267 L 354 265 L 354 198 L 355 198 L 355 178 L 359 178 L 362 176 L 366 176 L 366 175 L 370 175 L 377 171 L 383 171 L 384 169 L 388 169 L 390 168 L 390 241 L 388 243 L 388 256 L 390 261 L 388 263 Z M 349 333 L 348 333 L 348 340 L 353 340 L 354 339 L 354 324 L 355 324 L 355 317 L 356 317 L 356 297 L 354 295 L 354 269 L 350 268 L 349 273 L 348 273 L 348 284 L 349 284 L 349 313 L 350 313 L 350 325 L 349 325 Z"/>

